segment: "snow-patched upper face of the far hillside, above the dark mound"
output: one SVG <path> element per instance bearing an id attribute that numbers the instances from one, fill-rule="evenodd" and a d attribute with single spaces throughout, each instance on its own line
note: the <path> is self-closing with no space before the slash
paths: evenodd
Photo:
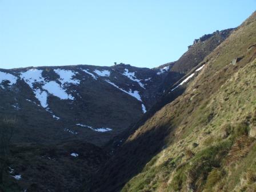
<path id="1" fill-rule="evenodd" d="M 166 75 L 123 64 L 0 70 L 1 116 L 19 120 L 17 142 L 75 138 L 101 145 L 153 105 Z"/>

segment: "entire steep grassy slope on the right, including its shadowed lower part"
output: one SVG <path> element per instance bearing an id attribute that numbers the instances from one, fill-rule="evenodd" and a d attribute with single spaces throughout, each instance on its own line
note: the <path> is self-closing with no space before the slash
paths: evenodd
<path id="1" fill-rule="evenodd" d="M 256 13 L 131 129 L 90 190 L 255 191 L 255 31 Z"/>

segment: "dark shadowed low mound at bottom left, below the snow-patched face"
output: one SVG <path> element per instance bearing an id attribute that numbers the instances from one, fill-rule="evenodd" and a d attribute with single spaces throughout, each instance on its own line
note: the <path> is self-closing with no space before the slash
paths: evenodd
<path id="1" fill-rule="evenodd" d="M 81 191 L 82 183 L 109 158 L 100 147 L 82 141 L 13 145 L 10 153 L 10 179 L 5 179 L 3 191 L 11 192 Z"/>

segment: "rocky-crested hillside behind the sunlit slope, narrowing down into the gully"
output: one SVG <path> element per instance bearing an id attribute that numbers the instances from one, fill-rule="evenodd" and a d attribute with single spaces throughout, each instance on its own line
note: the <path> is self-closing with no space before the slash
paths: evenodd
<path id="1" fill-rule="evenodd" d="M 213 51 L 227 37 L 229 37 L 233 31 L 234 29 L 227 29 L 216 31 L 213 34 L 203 35 L 201 38 L 194 40 L 194 44 L 189 46 L 189 49 L 181 56 L 181 58 L 178 59 L 178 61 L 166 63 L 155 68 L 155 70 L 160 70 L 159 72 L 161 72 L 163 69 L 169 69 L 169 72 L 163 80 L 163 83 L 158 87 L 155 87 L 155 90 L 158 90 L 158 92 L 153 92 L 157 96 L 155 101 L 152 102 L 154 103 L 153 107 L 151 107 L 147 113 L 139 119 L 139 121 L 132 124 L 130 129 L 126 129 L 123 131 L 123 133 L 117 135 L 117 137 L 114 139 L 111 139 L 111 141 L 107 143 L 108 150 L 115 151 L 115 147 L 118 147 L 122 141 L 127 139 L 127 137 L 133 133 L 134 129 L 137 129 L 137 127 L 143 125 L 147 119 L 152 117 L 152 115 L 154 115 L 163 106 L 181 95 L 185 90 L 182 87 L 179 87 L 179 89 L 172 94 L 165 93 L 171 91 L 170 87 L 173 87 L 172 89 L 174 89 L 180 83 L 185 83 L 183 81 L 186 81 L 187 76 L 190 75 L 186 74 L 188 74 L 191 70 L 198 73 L 200 69 L 197 69 L 196 66 L 199 65 L 199 63 L 201 63 L 203 59 L 205 59 L 205 57 L 211 53 L 211 51 Z M 204 63 L 201 65 L 204 65 Z"/>

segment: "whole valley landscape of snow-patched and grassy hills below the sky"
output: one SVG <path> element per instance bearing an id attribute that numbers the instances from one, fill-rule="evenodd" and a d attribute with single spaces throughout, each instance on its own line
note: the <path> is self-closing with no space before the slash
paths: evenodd
<path id="1" fill-rule="evenodd" d="M 253 13 L 153 69 L 0 69 L 0 191 L 256 190 L 255 31 Z"/>

